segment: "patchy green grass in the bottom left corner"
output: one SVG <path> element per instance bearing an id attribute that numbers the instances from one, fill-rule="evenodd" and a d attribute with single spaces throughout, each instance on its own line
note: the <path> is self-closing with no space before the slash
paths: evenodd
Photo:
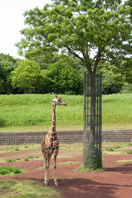
<path id="1" fill-rule="evenodd" d="M 59 198 L 60 193 L 54 188 L 42 186 L 32 180 L 1 180 L 0 198 Z"/>

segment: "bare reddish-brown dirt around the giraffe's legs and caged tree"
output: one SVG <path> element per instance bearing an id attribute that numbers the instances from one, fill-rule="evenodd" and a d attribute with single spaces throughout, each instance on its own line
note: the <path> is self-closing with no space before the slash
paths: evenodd
<path id="1" fill-rule="evenodd" d="M 28 150 L 30 155 L 39 152 Z M 20 178 L 33 179 L 43 184 L 44 171 L 43 159 L 31 159 L 29 161 L 16 161 L 0 163 L 0 166 L 14 166 L 26 170 L 26 173 L 15 176 L 1 176 L 0 179 Z M 12 153 L 1 153 L 0 158 L 18 158 L 27 157 L 27 151 Z M 83 157 L 81 150 L 61 150 L 57 159 L 57 178 L 59 186 L 56 190 L 61 192 L 61 198 L 131 198 L 132 197 L 132 154 L 103 154 L 104 171 L 85 173 L 77 171 L 76 168 L 82 165 Z M 119 160 L 127 160 L 125 163 L 117 163 Z M 51 178 L 49 186 L 54 186 L 52 167 L 49 177 Z"/>

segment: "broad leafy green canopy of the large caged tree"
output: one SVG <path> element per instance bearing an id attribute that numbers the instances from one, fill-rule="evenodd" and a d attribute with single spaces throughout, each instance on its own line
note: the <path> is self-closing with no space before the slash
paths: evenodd
<path id="1" fill-rule="evenodd" d="M 69 53 L 95 74 L 101 60 L 118 62 L 131 54 L 131 12 L 130 1 L 53 0 L 25 12 L 19 53 Z"/>

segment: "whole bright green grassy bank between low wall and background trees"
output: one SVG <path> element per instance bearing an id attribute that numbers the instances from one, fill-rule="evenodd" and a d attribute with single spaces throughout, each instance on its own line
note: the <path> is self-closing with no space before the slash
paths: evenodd
<path id="1" fill-rule="evenodd" d="M 59 95 L 68 105 L 57 106 L 57 130 L 83 129 L 83 96 Z M 0 131 L 47 131 L 54 95 L 0 95 Z M 104 95 L 103 129 L 132 128 L 132 95 Z"/>

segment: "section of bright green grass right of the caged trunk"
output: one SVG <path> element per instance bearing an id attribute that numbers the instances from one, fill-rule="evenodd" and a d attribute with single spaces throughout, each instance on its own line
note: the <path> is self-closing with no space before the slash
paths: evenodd
<path id="1" fill-rule="evenodd" d="M 132 94 L 113 94 L 103 96 L 103 124 L 131 125 Z"/>

